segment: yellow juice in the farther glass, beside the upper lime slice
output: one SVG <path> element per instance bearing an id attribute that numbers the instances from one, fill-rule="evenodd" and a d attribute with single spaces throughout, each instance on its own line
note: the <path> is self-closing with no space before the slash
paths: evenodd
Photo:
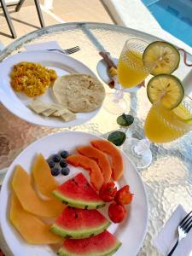
<path id="1" fill-rule="evenodd" d="M 126 51 L 119 57 L 118 79 L 124 87 L 140 84 L 148 73 L 143 65 L 143 55 L 137 51 Z"/>

